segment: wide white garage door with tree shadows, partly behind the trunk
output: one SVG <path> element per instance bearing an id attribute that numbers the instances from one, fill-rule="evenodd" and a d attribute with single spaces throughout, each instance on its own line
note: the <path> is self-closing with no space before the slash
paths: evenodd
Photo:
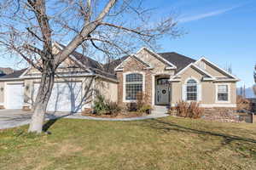
<path id="1" fill-rule="evenodd" d="M 34 84 L 34 94 L 38 94 L 39 83 Z M 81 82 L 55 82 L 49 98 L 47 111 L 81 111 Z M 34 95 L 35 99 L 36 95 Z"/>

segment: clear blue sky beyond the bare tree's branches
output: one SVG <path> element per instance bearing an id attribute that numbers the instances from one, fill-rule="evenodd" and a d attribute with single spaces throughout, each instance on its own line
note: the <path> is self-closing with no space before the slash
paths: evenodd
<path id="1" fill-rule="evenodd" d="M 159 52 L 177 52 L 193 59 L 206 57 L 224 68 L 231 66 L 241 82 L 253 85 L 256 64 L 255 0 L 146 0 L 154 18 L 173 14 L 185 34 L 160 40 Z M 1 67 L 19 69 L 16 59 L 0 59 Z"/>

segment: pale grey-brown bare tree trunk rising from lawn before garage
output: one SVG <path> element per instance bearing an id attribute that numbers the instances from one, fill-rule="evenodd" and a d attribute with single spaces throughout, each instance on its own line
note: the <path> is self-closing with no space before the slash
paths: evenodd
<path id="1" fill-rule="evenodd" d="M 42 133 L 44 116 L 55 81 L 55 72 L 43 71 L 28 132 Z"/>

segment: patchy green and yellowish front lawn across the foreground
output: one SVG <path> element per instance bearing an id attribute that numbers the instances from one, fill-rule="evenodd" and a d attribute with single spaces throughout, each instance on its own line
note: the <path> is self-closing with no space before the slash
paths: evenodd
<path id="1" fill-rule="evenodd" d="M 0 131 L 0 169 L 256 169 L 255 124 L 169 116 L 48 125 L 48 135 Z"/>

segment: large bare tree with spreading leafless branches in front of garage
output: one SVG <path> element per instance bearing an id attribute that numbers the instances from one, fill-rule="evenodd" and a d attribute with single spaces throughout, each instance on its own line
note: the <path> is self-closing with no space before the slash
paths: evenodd
<path id="1" fill-rule="evenodd" d="M 29 132 L 42 132 L 56 69 L 77 48 L 109 60 L 141 45 L 156 48 L 160 37 L 180 35 L 172 14 L 152 20 L 143 1 L 3 0 L 0 5 L 0 44 L 42 74 Z M 54 41 L 67 47 L 55 54 Z"/>

